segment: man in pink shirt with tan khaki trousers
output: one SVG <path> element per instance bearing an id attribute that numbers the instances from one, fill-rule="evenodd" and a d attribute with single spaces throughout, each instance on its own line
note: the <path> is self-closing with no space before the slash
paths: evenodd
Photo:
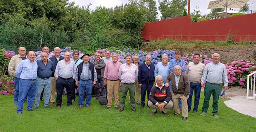
<path id="1" fill-rule="evenodd" d="M 104 84 L 107 85 L 107 98 L 108 98 L 108 106 L 106 109 L 111 108 L 112 105 L 112 92 L 114 89 L 115 94 L 115 108 L 119 109 L 119 77 L 118 77 L 118 71 L 119 67 L 122 65 L 121 62 L 117 61 L 118 55 L 116 53 L 112 54 L 112 61 L 109 62 L 104 71 Z"/>

